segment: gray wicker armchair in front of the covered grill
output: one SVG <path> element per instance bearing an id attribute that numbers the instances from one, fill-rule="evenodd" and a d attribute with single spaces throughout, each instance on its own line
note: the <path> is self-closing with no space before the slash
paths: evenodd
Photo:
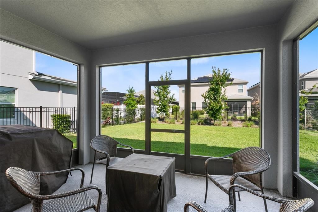
<path id="1" fill-rule="evenodd" d="M 58 174 L 80 170 L 82 172 L 82 180 L 80 188 L 65 193 L 40 195 L 40 178 L 43 175 Z M 31 172 L 18 167 L 10 167 L 5 172 L 9 182 L 21 194 L 28 197 L 32 203 L 32 212 L 41 211 L 85 211 L 93 208 L 100 211 L 101 190 L 98 186 L 88 185 L 83 187 L 84 171 L 80 168 L 71 168 L 56 172 Z M 95 189 L 98 191 L 97 205 L 86 193 L 86 191 Z M 52 200 L 51 200 L 52 199 Z M 44 200 L 51 200 L 43 203 Z"/>

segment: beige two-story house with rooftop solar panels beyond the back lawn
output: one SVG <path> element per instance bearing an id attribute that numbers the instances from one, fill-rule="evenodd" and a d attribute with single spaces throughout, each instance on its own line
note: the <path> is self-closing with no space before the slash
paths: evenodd
<path id="1" fill-rule="evenodd" d="M 210 79 L 212 74 L 207 74 L 201 77 L 197 77 L 191 80 L 191 109 L 204 108 L 204 99 L 202 94 L 210 87 Z M 240 80 L 237 78 L 231 78 L 228 80 L 228 84 L 233 83 L 226 87 L 225 94 L 227 95 L 227 104 L 229 109 L 234 108 L 250 108 L 251 100 L 253 97 L 246 95 L 246 84 L 248 81 Z M 184 86 L 179 87 L 179 106 L 184 108 Z"/>

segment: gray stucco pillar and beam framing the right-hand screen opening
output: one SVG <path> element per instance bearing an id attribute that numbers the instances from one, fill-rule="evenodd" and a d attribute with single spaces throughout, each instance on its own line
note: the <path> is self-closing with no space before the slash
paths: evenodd
<path id="1" fill-rule="evenodd" d="M 292 195 L 293 39 L 318 19 L 318 1 L 295 1 L 278 24 L 278 190 Z M 298 85 L 299 86 L 299 85 Z"/>

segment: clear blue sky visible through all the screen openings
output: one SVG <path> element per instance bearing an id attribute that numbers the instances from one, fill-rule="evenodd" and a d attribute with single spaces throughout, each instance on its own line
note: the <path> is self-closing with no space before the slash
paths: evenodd
<path id="1" fill-rule="evenodd" d="M 300 72 L 318 68 L 318 28 L 300 40 Z M 247 80 L 248 87 L 259 82 L 259 53 L 225 55 L 191 60 L 191 79 L 211 73 L 211 67 L 228 68 L 231 76 Z M 36 70 L 45 74 L 77 79 L 77 67 L 72 63 L 36 53 Z M 149 80 L 157 80 L 160 74 L 172 70 L 174 80 L 186 78 L 186 60 L 173 60 L 149 64 Z M 102 87 L 109 91 L 125 93 L 128 86 L 136 91 L 145 89 L 145 64 L 113 66 L 102 68 Z M 172 86 L 178 99 L 178 89 Z"/>

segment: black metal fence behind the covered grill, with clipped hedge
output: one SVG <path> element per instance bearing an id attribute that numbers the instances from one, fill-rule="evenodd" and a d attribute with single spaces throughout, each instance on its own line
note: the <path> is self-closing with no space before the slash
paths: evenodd
<path id="1" fill-rule="evenodd" d="M 75 133 L 76 117 L 76 107 L 0 107 L 0 125 L 23 124 Z"/>

